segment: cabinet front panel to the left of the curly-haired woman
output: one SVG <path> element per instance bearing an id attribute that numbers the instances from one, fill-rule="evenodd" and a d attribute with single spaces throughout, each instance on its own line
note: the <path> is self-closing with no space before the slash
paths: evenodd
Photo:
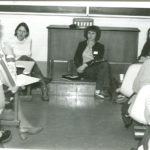
<path id="1" fill-rule="evenodd" d="M 79 41 L 84 40 L 83 30 L 52 29 L 50 36 L 50 57 L 58 60 L 72 59 Z"/>

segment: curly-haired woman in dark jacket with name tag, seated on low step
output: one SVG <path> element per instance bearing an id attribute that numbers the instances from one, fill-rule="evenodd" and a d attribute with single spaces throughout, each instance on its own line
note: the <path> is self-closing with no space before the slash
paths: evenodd
<path id="1" fill-rule="evenodd" d="M 99 43 L 101 30 L 89 26 L 84 31 L 86 40 L 79 43 L 74 56 L 78 74 L 96 81 L 95 96 L 104 99 L 110 89 L 110 66 L 104 60 L 104 45 Z"/>

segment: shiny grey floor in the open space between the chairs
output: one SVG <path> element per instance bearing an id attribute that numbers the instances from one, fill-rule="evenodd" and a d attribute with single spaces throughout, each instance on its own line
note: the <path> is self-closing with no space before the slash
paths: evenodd
<path id="1" fill-rule="evenodd" d="M 132 129 L 125 129 L 120 105 L 99 103 L 92 96 L 52 96 L 50 102 L 35 95 L 22 102 L 24 113 L 44 130 L 21 141 L 17 128 L 10 128 L 12 140 L 5 148 L 49 150 L 130 150 L 137 145 Z"/>

